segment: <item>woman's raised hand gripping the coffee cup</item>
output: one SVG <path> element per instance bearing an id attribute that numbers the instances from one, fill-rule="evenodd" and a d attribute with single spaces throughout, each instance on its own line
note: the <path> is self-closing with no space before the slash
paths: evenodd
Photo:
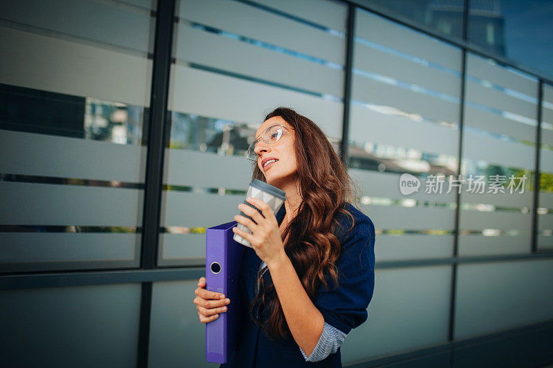
<path id="1" fill-rule="evenodd" d="M 252 234 L 246 233 L 236 226 L 232 228 L 232 231 L 250 242 L 257 256 L 270 267 L 270 264 L 282 260 L 283 256 L 285 256 L 284 244 L 279 231 L 279 222 L 268 204 L 253 197 L 248 197 L 246 200 L 260 209 L 263 215 L 246 204 L 238 204 L 238 209 L 252 217 L 255 222 L 247 217 L 236 215 L 234 216 L 234 220 L 250 229 Z"/>

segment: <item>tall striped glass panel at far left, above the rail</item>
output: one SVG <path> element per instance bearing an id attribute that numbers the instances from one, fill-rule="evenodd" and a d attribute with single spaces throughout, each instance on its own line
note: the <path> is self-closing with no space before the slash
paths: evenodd
<path id="1" fill-rule="evenodd" d="M 1 271 L 139 265 L 154 9 L 2 4 Z"/>

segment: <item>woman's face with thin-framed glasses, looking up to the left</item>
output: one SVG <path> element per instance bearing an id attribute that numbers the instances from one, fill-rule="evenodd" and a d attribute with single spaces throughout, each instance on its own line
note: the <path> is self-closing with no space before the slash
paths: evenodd
<path id="1" fill-rule="evenodd" d="M 289 129 L 282 130 L 282 137 L 278 142 L 268 144 L 261 139 L 261 134 L 273 124 L 281 124 Z M 294 153 L 295 132 L 285 119 L 280 116 L 265 120 L 256 131 L 255 153 L 257 154 L 257 166 L 265 175 L 268 184 L 281 188 L 286 182 L 294 181 L 297 175 L 296 154 Z M 263 160 L 266 158 L 278 159 L 277 162 L 263 168 Z"/>

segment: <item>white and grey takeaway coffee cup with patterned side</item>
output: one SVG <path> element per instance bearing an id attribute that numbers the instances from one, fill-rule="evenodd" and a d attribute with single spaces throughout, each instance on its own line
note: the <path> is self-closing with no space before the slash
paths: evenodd
<path id="1" fill-rule="evenodd" d="M 276 186 L 272 186 L 270 184 L 262 182 L 259 179 L 256 179 L 253 182 L 251 182 L 250 187 L 247 188 L 246 198 L 247 197 L 254 197 L 254 198 L 257 198 L 259 200 L 262 200 L 263 202 L 265 202 L 266 204 L 269 205 L 269 207 L 272 209 L 274 215 L 276 216 L 277 213 L 279 213 L 279 210 L 281 209 L 281 206 L 283 205 L 284 201 L 286 200 L 285 194 L 286 194 L 285 191 L 283 191 L 282 189 L 279 189 Z M 259 213 L 261 213 L 260 209 L 258 209 L 256 206 L 254 206 L 250 202 L 247 202 L 247 200 L 244 200 L 243 204 L 247 204 L 248 206 L 256 209 Z M 242 211 L 240 211 L 240 215 L 242 215 L 244 217 L 247 217 L 250 220 L 254 221 L 252 219 L 252 217 L 246 215 Z M 245 231 L 246 233 L 250 233 L 250 234 L 252 233 L 252 231 L 250 231 L 250 229 L 248 229 L 247 226 L 244 226 L 243 224 L 241 224 L 239 222 L 236 226 L 238 227 L 238 229 L 241 229 L 241 230 Z M 233 239 L 236 240 L 236 242 L 238 242 L 240 244 L 243 244 L 245 246 L 249 246 L 250 248 L 252 247 L 250 242 L 248 242 L 247 240 L 245 240 L 244 238 L 242 238 L 240 235 L 238 235 L 236 233 L 234 234 Z"/>

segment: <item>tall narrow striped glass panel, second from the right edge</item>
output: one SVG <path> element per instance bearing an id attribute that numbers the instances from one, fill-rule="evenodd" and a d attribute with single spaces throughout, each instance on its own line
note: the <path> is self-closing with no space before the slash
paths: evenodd
<path id="1" fill-rule="evenodd" d="M 527 253 L 538 81 L 467 53 L 465 86 L 459 254 Z"/>

